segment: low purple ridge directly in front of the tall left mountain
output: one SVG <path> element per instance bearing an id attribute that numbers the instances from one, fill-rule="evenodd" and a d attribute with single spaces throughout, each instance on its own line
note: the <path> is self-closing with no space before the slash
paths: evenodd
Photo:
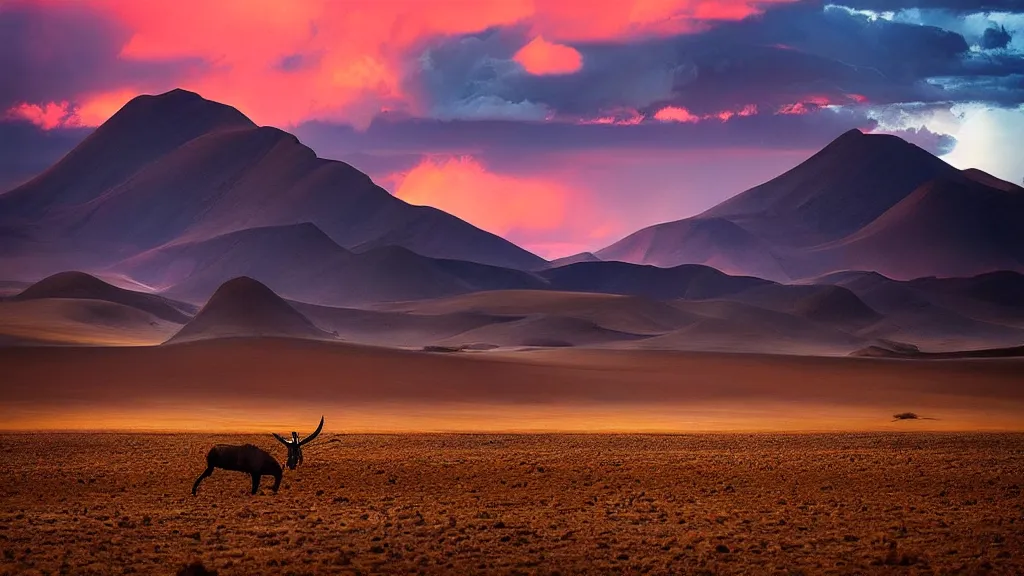
<path id="1" fill-rule="evenodd" d="M 174 242 L 113 270 L 168 296 L 200 303 L 240 276 L 258 280 L 289 299 L 335 306 L 546 287 L 530 273 L 430 258 L 398 246 L 350 252 L 310 222 Z"/>

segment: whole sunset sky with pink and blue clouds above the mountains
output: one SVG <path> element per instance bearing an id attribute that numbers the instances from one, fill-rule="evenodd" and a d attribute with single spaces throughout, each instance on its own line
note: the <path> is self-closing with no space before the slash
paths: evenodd
<path id="1" fill-rule="evenodd" d="M 0 191 L 176 87 L 545 257 L 851 128 L 1024 181 L 1024 0 L 0 0 Z"/>

